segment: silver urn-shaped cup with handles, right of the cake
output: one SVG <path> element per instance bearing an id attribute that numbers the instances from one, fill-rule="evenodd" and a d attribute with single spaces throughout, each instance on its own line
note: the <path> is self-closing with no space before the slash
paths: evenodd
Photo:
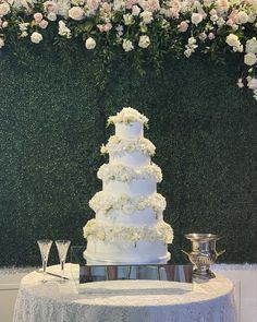
<path id="1" fill-rule="evenodd" d="M 192 251 L 186 252 L 189 261 L 194 265 L 194 277 L 209 279 L 216 277 L 210 271 L 218 257 L 225 252 L 222 250 L 217 252 L 216 241 L 220 239 L 218 235 L 212 234 L 187 234 L 185 238 L 192 241 Z"/>

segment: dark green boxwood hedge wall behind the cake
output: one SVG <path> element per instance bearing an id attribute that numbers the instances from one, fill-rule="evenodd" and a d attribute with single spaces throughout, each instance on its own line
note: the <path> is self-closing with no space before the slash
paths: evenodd
<path id="1" fill-rule="evenodd" d="M 39 264 L 39 238 L 85 243 L 99 147 L 113 133 L 106 120 L 123 106 L 150 119 L 173 260 L 186 261 L 184 234 L 213 232 L 227 249 L 220 261 L 257 262 L 257 103 L 235 85 L 238 61 L 170 59 L 140 76 L 123 56 L 108 74 L 91 56 L 74 57 L 0 59 L 0 265 Z"/>

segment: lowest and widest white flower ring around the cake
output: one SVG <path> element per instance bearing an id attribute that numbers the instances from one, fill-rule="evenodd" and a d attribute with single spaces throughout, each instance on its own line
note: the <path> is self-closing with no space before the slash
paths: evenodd
<path id="1" fill-rule="evenodd" d="M 171 243 L 173 240 L 173 229 L 164 222 L 158 223 L 156 227 L 122 227 L 107 226 L 99 224 L 96 219 L 90 219 L 84 227 L 85 238 L 95 238 L 108 242 L 126 241 L 136 242 L 139 240 L 146 241 L 162 241 Z"/>

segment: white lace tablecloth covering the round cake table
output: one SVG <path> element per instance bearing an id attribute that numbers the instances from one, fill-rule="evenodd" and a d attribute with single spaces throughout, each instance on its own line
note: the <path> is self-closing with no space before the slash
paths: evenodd
<path id="1" fill-rule="evenodd" d="M 74 265 L 66 264 L 66 274 Z M 59 266 L 49 267 L 58 272 Z M 113 281 L 89 283 L 78 294 L 71 278 L 33 272 L 21 283 L 14 322 L 235 322 L 233 285 L 222 275 L 206 283 Z M 180 285 L 182 287 L 180 287 Z"/>

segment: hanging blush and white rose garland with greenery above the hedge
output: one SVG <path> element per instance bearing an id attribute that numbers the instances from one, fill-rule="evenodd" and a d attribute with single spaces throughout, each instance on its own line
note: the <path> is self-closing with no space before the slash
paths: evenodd
<path id="1" fill-rule="evenodd" d="M 237 86 L 257 99 L 257 0 L 0 0 L 0 48 L 76 37 L 85 50 L 122 49 L 156 65 L 166 55 L 241 53 Z"/>

